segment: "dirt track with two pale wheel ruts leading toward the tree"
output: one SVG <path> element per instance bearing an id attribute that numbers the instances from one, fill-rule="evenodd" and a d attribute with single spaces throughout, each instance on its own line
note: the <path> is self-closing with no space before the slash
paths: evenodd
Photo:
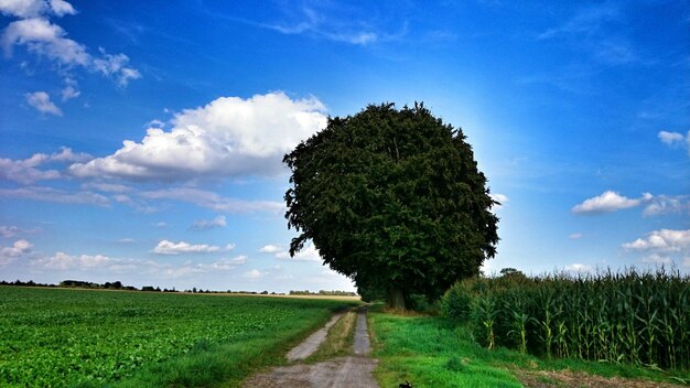
<path id="1" fill-rule="evenodd" d="M 331 327 L 339 316 L 334 316 L 327 327 Z M 309 354 L 312 354 L 319 347 L 319 344 L 325 340 L 325 334 L 321 337 L 321 342 L 313 345 L 314 337 L 317 333 L 324 331 L 327 333 L 327 328 L 324 327 L 316 333 L 312 334 L 304 343 L 292 349 L 289 355 L 289 360 L 303 359 L 290 358 L 290 355 L 294 357 L 294 354 L 302 354 L 295 352 L 306 343 L 311 345 L 304 346 L 304 348 L 313 348 Z M 355 328 L 355 344 L 353 346 L 354 356 L 333 358 L 327 362 L 317 363 L 313 365 L 295 364 L 291 366 L 284 366 L 273 368 L 272 370 L 256 375 L 245 381 L 245 388 L 335 388 L 335 387 L 358 387 L 358 388 L 378 388 L 378 384 L 374 379 L 373 373 L 376 368 L 376 359 L 368 356 L 370 351 L 369 333 L 367 332 L 367 317 L 366 310 L 360 310 L 357 314 L 357 326 Z M 293 353 L 294 352 L 294 353 Z"/>

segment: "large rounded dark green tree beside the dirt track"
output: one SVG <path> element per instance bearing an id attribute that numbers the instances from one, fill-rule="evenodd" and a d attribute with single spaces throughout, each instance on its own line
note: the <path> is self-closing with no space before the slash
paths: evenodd
<path id="1" fill-rule="evenodd" d="M 332 269 L 395 308 L 439 297 L 496 254 L 496 202 L 472 148 L 421 104 L 330 118 L 283 162 L 285 217 L 299 231 L 290 254 L 312 240 Z"/>

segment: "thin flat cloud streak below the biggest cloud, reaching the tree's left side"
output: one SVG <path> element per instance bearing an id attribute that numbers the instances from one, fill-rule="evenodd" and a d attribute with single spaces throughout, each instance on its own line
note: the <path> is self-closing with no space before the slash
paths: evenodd
<path id="1" fill-rule="evenodd" d="M 282 213 L 284 204 L 271 201 L 245 201 L 222 197 L 216 193 L 192 187 L 176 187 L 142 192 L 140 195 L 150 200 L 174 200 L 195 204 L 224 213 Z"/>

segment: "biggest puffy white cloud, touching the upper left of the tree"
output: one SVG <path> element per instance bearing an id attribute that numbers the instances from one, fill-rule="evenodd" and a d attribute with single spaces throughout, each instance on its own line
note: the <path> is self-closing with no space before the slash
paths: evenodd
<path id="1" fill-rule="evenodd" d="M 170 131 L 149 128 L 141 142 L 126 140 L 114 154 L 69 171 L 80 177 L 154 181 L 274 175 L 283 171 L 285 152 L 325 127 L 324 111 L 314 97 L 293 100 L 281 91 L 222 97 L 177 114 Z"/>

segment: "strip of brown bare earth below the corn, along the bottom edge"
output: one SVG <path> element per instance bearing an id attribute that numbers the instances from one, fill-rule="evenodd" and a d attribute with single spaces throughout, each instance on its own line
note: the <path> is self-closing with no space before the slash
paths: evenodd
<path id="1" fill-rule="evenodd" d="M 516 377 L 529 388 L 678 388 L 676 385 L 622 377 L 603 377 L 572 370 L 516 370 Z"/>

